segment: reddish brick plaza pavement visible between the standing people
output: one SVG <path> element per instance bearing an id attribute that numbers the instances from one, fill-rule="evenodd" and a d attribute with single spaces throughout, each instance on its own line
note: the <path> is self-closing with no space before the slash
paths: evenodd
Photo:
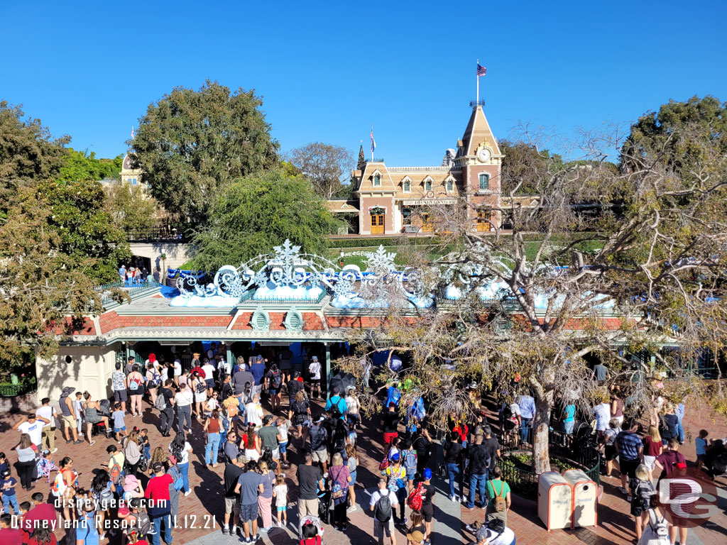
<path id="1" fill-rule="evenodd" d="M 148 403 L 144 403 L 145 411 L 142 417 L 127 416 L 126 425 L 131 427 L 138 425 L 140 427 L 148 427 L 150 432 L 150 440 L 152 448 L 161 445 L 166 448 L 169 444 L 168 439 L 164 439 L 159 435 L 156 424 L 158 423 L 158 411 L 151 408 Z M 314 411 L 320 411 L 320 408 Z M 17 416 L 4 413 L 0 416 L 0 451 L 8 454 L 11 464 L 17 460 L 15 453 L 10 449 L 19 438 L 17 432 L 10 429 L 16 421 Z M 685 429 L 688 434 L 686 444 L 682 448 L 688 461 L 695 459 L 694 454 L 694 436 L 702 427 L 710 430 L 710 437 L 726 437 L 727 436 L 727 419 L 717 416 L 710 411 L 710 408 L 704 403 L 691 403 L 687 407 L 685 416 Z M 367 505 L 369 496 L 364 488 L 371 488 L 375 485 L 378 477 L 378 461 L 381 458 L 381 445 L 379 443 L 380 433 L 372 431 L 369 423 L 364 421 L 364 432 L 359 435 L 361 456 L 361 466 L 358 470 L 358 488 L 357 502 L 358 504 Z M 100 467 L 105 463 L 107 455 L 105 448 L 111 444 L 113 440 L 103 437 L 96 437 L 97 443 L 89 447 L 87 443 L 83 445 L 66 445 L 57 432 L 56 444 L 59 448 L 55 454 L 55 459 L 60 460 L 63 456 L 71 456 L 74 459 L 77 470 L 83 472 L 81 475 L 81 485 L 89 485 L 92 469 Z M 190 435 L 190 443 L 193 446 L 194 454 L 190 457 L 190 484 L 193 493 L 188 497 L 180 498 L 180 526 L 174 530 L 174 543 L 187 544 L 194 543 L 196 545 L 224 544 L 222 534 L 220 533 L 220 520 L 222 516 L 222 495 L 220 490 L 220 482 L 223 472 L 223 466 L 220 464 L 216 469 L 209 469 L 204 465 L 204 438 L 201 430 L 201 424 L 193 422 L 193 433 Z M 290 448 L 292 451 L 291 459 L 297 459 L 296 441 Z M 286 473 L 289 477 L 293 476 L 296 467 L 293 465 Z M 15 475 L 15 470 L 13 471 Z M 291 488 L 290 499 L 294 501 L 297 498 L 297 487 L 294 480 L 289 479 Z M 627 545 L 633 538 L 633 522 L 632 517 L 628 514 L 629 506 L 625 498 L 617 491 L 618 486 L 616 478 L 603 478 L 603 496 L 598 506 L 598 527 L 596 528 L 580 528 L 577 530 L 553 530 L 548 533 L 542 523 L 537 518 L 537 509 L 534 501 L 526 501 L 522 498 L 513 498 L 513 509 L 508 515 L 508 525 L 515 530 L 518 544 L 524 545 L 576 545 L 576 544 L 614 544 Z M 436 504 L 449 502 L 446 497 L 446 485 L 438 483 L 440 493 L 435 498 Z M 44 483 L 36 483 L 35 491 L 47 493 L 47 485 Z M 727 543 L 727 516 L 725 515 L 725 507 L 727 506 L 727 482 L 718 480 L 718 489 L 720 491 L 720 513 L 715 520 L 710 521 L 707 525 L 696 530 L 690 530 L 687 545 L 712 545 Z M 28 500 L 30 493 L 19 490 L 18 500 L 20 502 Z M 448 506 L 447 511 L 457 507 Z M 294 511 L 294 509 L 293 509 Z M 481 517 L 481 511 L 475 509 L 469 511 L 461 508 L 461 516 L 459 522 L 459 530 L 461 532 L 462 542 L 471 541 L 471 536 L 464 529 L 464 525 L 473 522 L 476 518 Z M 441 520 L 443 512 L 436 509 L 436 519 Z M 219 520 L 217 517 L 220 517 Z M 368 512 L 359 509 L 350 515 L 352 522 L 351 528 L 345 534 L 337 532 L 332 527 L 326 527 L 326 544 L 350 544 L 356 545 L 372 544 L 374 538 L 371 536 L 372 525 Z M 456 517 L 446 517 L 446 523 L 454 527 Z M 214 522 L 213 522 L 214 521 Z M 441 523 L 441 522 L 440 522 Z M 435 522 L 435 534 L 438 533 L 437 523 Z M 265 539 L 273 544 L 289 543 L 293 534 L 285 533 L 284 530 L 273 530 L 271 535 Z M 60 537 L 60 536 L 59 536 Z M 406 538 L 398 532 L 397 538 L 399 543 L 405 542 Z M 234 542 L 231 541 L 231 542 Z M 434 541 L 436 542 L 436 540 Z M 441 541 L 440 541 L 441 542 Z"/>

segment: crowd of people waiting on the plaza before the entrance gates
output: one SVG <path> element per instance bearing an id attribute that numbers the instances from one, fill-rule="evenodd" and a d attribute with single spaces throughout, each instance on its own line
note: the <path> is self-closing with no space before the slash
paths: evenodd
<path id="1" fill-rule="evenodd" d="M 282 369 L 276 359 L 252 355 L 230 365 L 225 356 L 220 350 L 198 353 L 188 366 L 153 353 L 143 362 L 129 357 L 111 375 L 113 401 L 95 400 L 70 387 L 63 389 L 57 408 L 51 400 L 41 400 L 36 411 L 13 426 L 20 432 L 17 461 L 11 464 L 0 453 L 1 543 L 53 545 L 54 530 L 60 528 L 69 544 L 96 545 L 108 538 L 119 545 L 158 545 L 161 539 L 171 545 L 180 502 L 192 493 L 190 439 L 198 445 L 199 437 L 204 437 L 204 451 L 197 456 L 204 466 L 224 465 L 224 507 L 220 505 L 218 517 L 223 535 L 254 543 L 273 528 L 290 528 L 302 544 L 320 545 L 324 524 L 348 530 L 348 515 L 358 509 L 358 436 L 363 429 L 356 384 L 321 384 L 315 356 L 308 364 L 308 383 L 300 371 Z M 477 522 L 466 526 L 476 543 L 514 545 L 515 533 L 507 526 L 510 485 L 498 465 L 500 442 L 512 448 L 531 441 L 533 397 L 523 391 L 503 405 L 499 434 L 493 429 L 497 422 L 488 421 L 485 411 L 466 419 L 451 415 L 443 463 L 437 465 L 423 400 L 407 400 L 400 407 L 400 388 L 396 381 L 387 384 L 385 408 L 367 428 L 371 438 L 376 430 L 381 434 L 380 478 L 368 501 L 379 544 L 388 539 L 395 545 L 397 527 L 408 544 L 431 544 L 436 471 L 449 482 L 449 501 L 482 510 Z M 314 401 L 324 395 L 325 403 Z M 640 434 L 639 422 L 624 416 L 627 407 L 617 389 L 598 401 L 593 427 L 606 475 L 619 472 L 620 490 L 635 520 L 635 543 L 645 544 L 644 536 L 653 538 L 666 525 L 655 501 L 654 480 L 680 475 L 686 468 L 679 453 L 683 407 L 664 401 Z M 158 418 L 145 418 L 153 421 L 147 425 L 157 426 L 168 440 L 151 444 L 141 419 L 148 411 Z M 563 403 L 553 424 L 573 433 L 576 413 L 574 404 Z M 92 446 L 105 437 L 104 461 L 93 476 L 81 477 L 71 456 L 55 456 L 57 427 L 67 444 L 85 440 Z M 702 430 L 696 437 L 697 464 L 712 472 L 725 452 L 723 441 L 708 440 L 708 435 Z M 286 473 L 293 463 L 294 475 Z M 33 492 L 31 503 L 17 501 L 18 486 L 34 491 L 39 483 L 47 483 L 47 490 Z M 297 517 L 289 519 L 293 504 Z M 13 515 L 20 521 L 17 528 L 11 528 Z M 664 545 L 685 542 L 686 526 L 665 528 Z"/>

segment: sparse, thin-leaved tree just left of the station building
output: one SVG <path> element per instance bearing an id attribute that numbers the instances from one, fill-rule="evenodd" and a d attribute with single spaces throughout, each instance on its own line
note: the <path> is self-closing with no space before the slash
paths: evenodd
<path id="1" fill-rule="evenodd" d="M 310 180 L 316 193 L 325 199 L 345 193 L 345 189 L 350 187 L 342 183 L 348 179 L 353 166 L 353 156 L 346 148 L 311 142 L 292 150 L 290 161 Z"/>

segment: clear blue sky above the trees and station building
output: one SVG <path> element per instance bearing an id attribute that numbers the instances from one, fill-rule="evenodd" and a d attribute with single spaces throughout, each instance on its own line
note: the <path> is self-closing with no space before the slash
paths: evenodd
<path id="1" fill-rule="evenodd" d="M 506 4 L 506 5 L 500 5 Z M 475 95 L 497 138 L 568 136 L 669 99 L 727 100 L 727 2 L 4 2 L 0 99 L 97 156 L 147 105 L 206 78 L 256 89 L 286 151 L 369 148 L 438 164 Z M 615 157 L 614 157 L 615 159 Z"/>

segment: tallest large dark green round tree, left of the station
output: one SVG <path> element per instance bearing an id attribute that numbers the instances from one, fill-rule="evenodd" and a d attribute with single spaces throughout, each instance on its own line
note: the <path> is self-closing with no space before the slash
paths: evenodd
<path id="1" fill-rule="evenodd" d="M 175 87 L 150 104 L 133 140 L 132 166 L 177 219 L 203 225 L 210 203 L 233 179 L 278 165 L 278 143 L 254 91 L 206 81 Z"/>

